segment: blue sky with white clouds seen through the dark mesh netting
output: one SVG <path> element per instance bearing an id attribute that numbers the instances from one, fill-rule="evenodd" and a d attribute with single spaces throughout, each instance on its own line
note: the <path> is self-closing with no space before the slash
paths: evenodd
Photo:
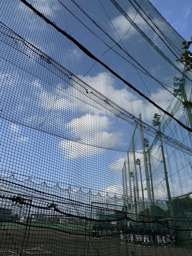
<path id="1" fill-rule="evenodd" d="M 154 24 L 151 24 L 152 30 L 128 1 L 119 3 L 145 32 L 146 38 L 111 3 L 110 9 L 107 2 L 101 5 L 95 0 L 91 2 L 93 8 L 90 8 L 89 1 L 79 1 L 85 12 L 95 19 L 107 35 L 71 1 L 66 1 L 71 12 L 66 11 L 56 0 L 31 0 L 30 3 L 163 109 L 168 109 L 172 104 L 169 108 L 172 111 L 178 100 L 167 89 L 173 92 L 173 78 L 183 71 L 183 66 L 176 62 L 173 54 L 177 53 L 176 48 L 181 48 L 182 38 L 153 10 L 153 18 L 155 22 L 158 19 L 161 26 L 162 38 L 154 33 L 154 30 L 158 33 Z M 56 4 L 53 6 L 53 3 Z M 110 104 L 103 100 L 107 97 L 136 117 L 142 113 L 143 120 L 150 125 L 154 113 L 160 113 L 159 110 L 87 57 L 21 1 L 14 1 L 14 4 L 3 1 L 3 8 L 2 22 L 25 40 L 18 38 L 13 31 L 8 31 L 7 27 L 1 27 L 2 175 L 6 177 L 14 173 L 19 179 L 24 179 L 26 175 L 34 180 L 45 179 L 52 184 L 62 183 L 63 188 L 72 186 L 77 190 L 81 187 L 86 191 L 92 189 L 94 193 L 105 191 L 122 195 L 121 171 L 126 151 L 128 148 L 132 151 L 129 144 L 134 126 L 113 115 Z M 191 15 L 189 7 L 186 8 L 182 9 L 185 26 Z M 95 10 L 99 14 L 95 15 Z M 167 7 L 163 11 L 166 14 L 170 10 Z M 75 13 L 85 24 L 80 24 L 71 13 Z M 178 29 L 185 30 L 184 26 L 179 27 L 177 18 L 170 20 L 170 23 L 175 28 L 177 25 Z M 169 39 L 174 41 L 174 46 L 169 44 Z M 117 41 L 119 45 L 114 43 Z M 63 67 L 53 60 L 51 63 L 55 66 L 51 65 L 46 61 L 48 57 L 45 54 Z M 166 89 L 160 86 L 159 81 Z M 188 95 L 191 93 L 190 86 Z M 96 91 L 97 96 L 102 94 L 99 101 L 94 96 Z M 112 110 L 119 115 L 119 109 Z M 176 115 L 181 118 L 183 113 L 181 108 Z M 169 125 L 166 133 L 181 141 L 187 136 L 186 132 L 181 133 L 179 125 L 175 123 Z M 152 143 L 153 137 L 145 135 L 149 136 Z M 136 137 L 135 147 L 137 157 L 142 159 L 140 134 Z M 174 150 L 168 147 L 166 154 Z M 157 143 L 157 147 L 154 145 L 153 148 L 152 163 L 157 187 L 164 177 L 162 161 L 158 162 L 159 159 Z M 178 163 L 176 167 L 172 156 L 169 159 L 172 163 L 170 172 L 183 170 L 183 163 Z M 133 154 L 130 160 L 133 168 Z M 171 183 L 177 193 L 177 177 L 173 177 Z M 157 190 L 156 195 L 163 191 L 164 186 Z"/>

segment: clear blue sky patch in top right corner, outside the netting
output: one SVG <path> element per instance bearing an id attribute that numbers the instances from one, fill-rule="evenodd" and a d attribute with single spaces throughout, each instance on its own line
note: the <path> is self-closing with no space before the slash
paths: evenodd
<path id="1" fill-rule="evenodd" d="M 191 0 L 151 0 L 150 2 L 185 40 L 190 40 L 192 36 Z"/>

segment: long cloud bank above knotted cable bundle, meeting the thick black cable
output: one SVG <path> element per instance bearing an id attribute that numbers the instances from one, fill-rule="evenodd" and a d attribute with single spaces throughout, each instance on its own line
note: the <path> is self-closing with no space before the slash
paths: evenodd
<path id="1" fill-rule="evenodd" d="M 98 92 L 102 93 L 134 116 L 138 117 L 141 113 L 143 121 L 149 121 L 151 123 L 153 114 L 160 113 L 159 110 L 148 101 L 145 101 L 144 99 L 139 98 L 136 94 L 130 92 L 128 87 L 120 90 L 115 89 L 115 81 L 107 72 L 100 73 L 94 77 L 86 76 L 84 79 Z M 177 101 L 177 98 L 173 98 L 173 95 L 163 88 L 151 92 L 150 98 L 165 110 L 169 107 L 172 100 L 173 106 Z"/>

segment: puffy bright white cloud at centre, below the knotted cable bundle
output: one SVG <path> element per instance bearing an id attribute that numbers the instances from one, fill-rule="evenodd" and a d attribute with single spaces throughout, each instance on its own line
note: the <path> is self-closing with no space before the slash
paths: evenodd
<path id="1" fill-rule="evenodd" d="M 66 154 L 68 158 L 79 158 L 100 154 L 103 148 L 114 148 L 121 140 L 121 133 L 109 132 L 110 121 L 106 116 L 90 115 L 73 119 L 65 125 L 70 130 L 70 137 L 76 138 L 77 142 L 72 142 L 72 151 Z M 70 143 L 69 143 L 70 144 Z M 66 141 L 62 141 L 60 146 L 66 150 Z"/>

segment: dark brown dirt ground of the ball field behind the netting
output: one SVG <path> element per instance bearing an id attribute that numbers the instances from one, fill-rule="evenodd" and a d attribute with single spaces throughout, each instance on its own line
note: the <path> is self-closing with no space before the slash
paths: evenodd
<path id="1" fill-rule="evenodd" d="M 192 244 L 189 244 L 188 248 L 143 247 L 121 244 L 120 238 L 91 239 L 89 236 L 55 230 L 27 230 L 27 232 L 1 230 L 0 242 L 0 256 L 189 256 L 192 254 Z"/>

